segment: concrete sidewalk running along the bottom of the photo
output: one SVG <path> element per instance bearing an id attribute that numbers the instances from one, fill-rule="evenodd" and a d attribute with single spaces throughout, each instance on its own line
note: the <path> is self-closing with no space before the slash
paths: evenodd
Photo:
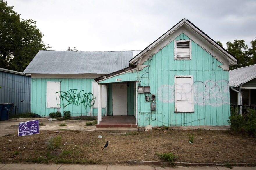
<path id="1" fill-rule="evenodd" d="M 0 164 L 0 170 L 28 170 L 28 169 L 43 169 L 43 170 L 155 170 L 155 169 L 173 169 L 173 170 L 202 170 L 202 169 L 209 169 L 209 170 L 228 170 L 227 167 L 207 167 L 207 166 L 200 166 L 200 167 L 153 167 L 149 165 L 134 165 L 134 166 L 120 166 L 120 165 L 46 165 L 46 164 Z M 256 167 L 233 167 L 234 170 L 254 170 Z"/>

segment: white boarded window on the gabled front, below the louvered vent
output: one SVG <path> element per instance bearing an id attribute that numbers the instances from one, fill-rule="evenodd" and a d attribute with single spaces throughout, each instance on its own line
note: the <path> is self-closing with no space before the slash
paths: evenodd
<path id="1" fill-rule="evenodd" d="M 174 76 L 175 112 L 194 112 L 193 76 Z"/>

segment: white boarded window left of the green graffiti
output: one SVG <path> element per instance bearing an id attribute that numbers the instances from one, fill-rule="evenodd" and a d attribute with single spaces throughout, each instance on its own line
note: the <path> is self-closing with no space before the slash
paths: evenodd
<path id="1" fill-rule="evenodd" d="M 47 108 L 60 108 L 60 93 L 61 82 L 47 81 L 46 83 L 46 107 Z"/>

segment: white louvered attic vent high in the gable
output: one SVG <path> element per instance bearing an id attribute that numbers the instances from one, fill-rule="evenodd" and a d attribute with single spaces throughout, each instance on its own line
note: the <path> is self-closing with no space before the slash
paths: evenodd
<path id="1" fill-rule="evenodd" d="M 191 60 L 191 40 L 174 40 L 174 59 Z"/>

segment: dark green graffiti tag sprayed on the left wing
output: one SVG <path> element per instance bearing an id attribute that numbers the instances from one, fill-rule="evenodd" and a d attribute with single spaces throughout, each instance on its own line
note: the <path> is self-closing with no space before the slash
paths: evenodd
<path id="1" fill-rule="evenodd" d="M 63 107 L 70 104 L 77 106 L 82 104 L 85 108 L 87 108 L 87 106 L 93 107 L 96 99 L 96 97 L 93 97 L 92 93 L 84 93 L 83 90 L 77 92 L 77 89 L 70 89 L 67 92 L 56 92 L 56 99 L 58 97 L 61 99 L 61 103 L 58 103 L 57 100 L 57 105 L 63 105 Z"/>

